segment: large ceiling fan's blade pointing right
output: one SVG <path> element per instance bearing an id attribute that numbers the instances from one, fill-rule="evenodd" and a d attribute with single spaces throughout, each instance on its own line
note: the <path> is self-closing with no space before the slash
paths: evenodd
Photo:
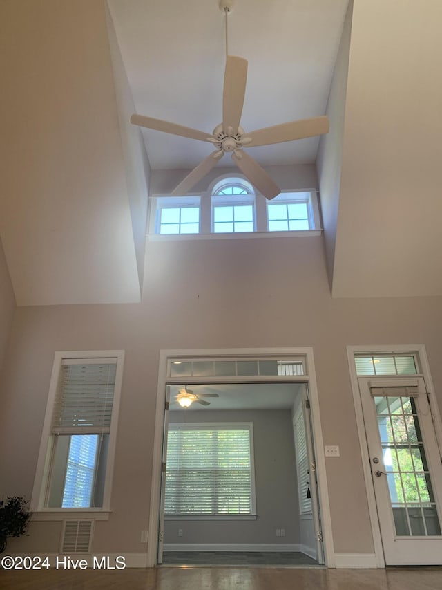
<path id="1" fill-rule="evenodd" d="M 294 141 L 296 139 L 322 135 L 323 133 L 328 133 L 328 131 L 329 118 L 326 116 L 300 119 L 246 133 L 247 138 L 251 139 L 251 142 L 247 143 L 247 147 Z"/>

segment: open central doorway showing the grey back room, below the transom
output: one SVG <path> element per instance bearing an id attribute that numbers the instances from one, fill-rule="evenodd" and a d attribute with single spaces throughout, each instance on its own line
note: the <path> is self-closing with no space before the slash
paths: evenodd
<path id="1" fill-rule="evenodd" d="M 322 563 L 311 499 L 316 481 L 314 473 L 310 478 L 306 384 L 167 388 L 158 562 Z M 182 407 L 190 396 L 196 399 Z"/>

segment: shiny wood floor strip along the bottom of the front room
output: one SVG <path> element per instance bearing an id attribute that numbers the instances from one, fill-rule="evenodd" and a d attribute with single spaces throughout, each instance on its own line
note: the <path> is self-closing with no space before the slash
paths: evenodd
<path id="1" fill-rule="evenodd" d="M 442 568 L 160 567 L 4 571 L 1 590 L 441 590 Z"/>

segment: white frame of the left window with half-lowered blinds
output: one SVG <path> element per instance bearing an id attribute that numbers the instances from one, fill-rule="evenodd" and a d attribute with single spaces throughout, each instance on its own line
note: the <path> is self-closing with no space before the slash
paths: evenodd
<path id="1" fill-rule="evenodd" d="M 52 459 L 52 450 L 54 448 L 54 435 L 52 434 L 52 414 L 54 411 L 57 386 L 62 363 L 73 360 L 78 362 L 99 358 L 113 358 L 116 361 L 117 369 L 115 374 L 115 389 L 113 396 L 113 409 L 111 420 L 111 431 L 109 433 L 108 459 L 106 463 L 106 477 L 104 481 L 103 506 L 101 508 L 48 508 L 46 496 L 50 485 L 50 462 Z M 32 490 L 32 499 L 30 502 L 30 511 L 33 513 L 33 520 L 63 520 L 66 517 L 75 518 L 90 517 L 95 519 L 108 519 L 108 513 L 111 511 L 111 485 L 113 479 L 113 466 L 115 460 L 115 445 L 117 436 L 117 423 L 119 415 L 119 400 L 122 389 L 122 373 L 124 364 L 124 351 L 57 351 L 55 353 L 52 376 L 48 393 L 48 402 L 46 404 L 46 414 L 44 418 L 43 432 L 41 434 L 41 443 L 39 457 L 37 460 L 37 470 L 35 474 L 34 488 Z"/>

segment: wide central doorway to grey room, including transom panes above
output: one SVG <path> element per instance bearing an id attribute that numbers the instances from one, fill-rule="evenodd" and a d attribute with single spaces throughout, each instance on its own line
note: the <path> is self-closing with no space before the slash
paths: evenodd
<path id="1" fill-rule="evenodd" d="M 160 375 L 155 564 L 324 564 L 331 531 L 323 534 L 329 512 L 312 358 L 307 375 L 305 357 L 202 360 L 199 352 L 191 360 L 171 351 Z"/>

